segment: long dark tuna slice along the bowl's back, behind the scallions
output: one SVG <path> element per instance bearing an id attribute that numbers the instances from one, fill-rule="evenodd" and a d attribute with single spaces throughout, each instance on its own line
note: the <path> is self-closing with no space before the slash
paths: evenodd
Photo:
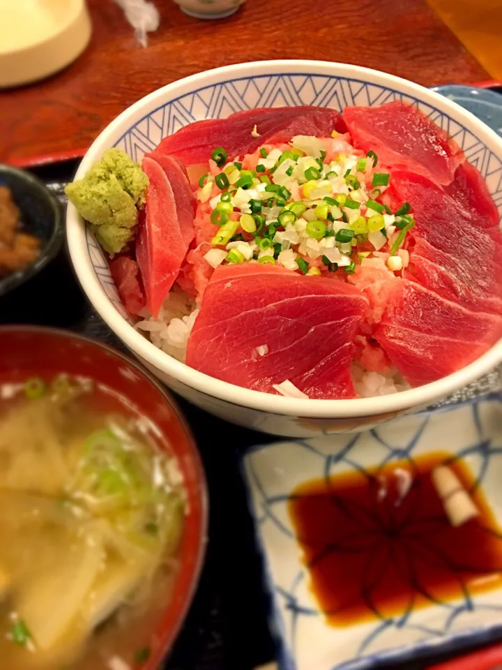
<path id="1" fill-rule="evenodd" d="M 254 137 L 257 126 L 259 137 Z M 326 107 L 273 107 L 231 114 L 227 119 L 196 121 L 165 137 L 154 153 L 172 154 L 185 165 L 207 163 L 216 147 L 224 147 L 229 159 L 252 154 L 265 142 L 287 142 L 294 135 L 330 137 L 344 133 L 342 115 Z"/>

